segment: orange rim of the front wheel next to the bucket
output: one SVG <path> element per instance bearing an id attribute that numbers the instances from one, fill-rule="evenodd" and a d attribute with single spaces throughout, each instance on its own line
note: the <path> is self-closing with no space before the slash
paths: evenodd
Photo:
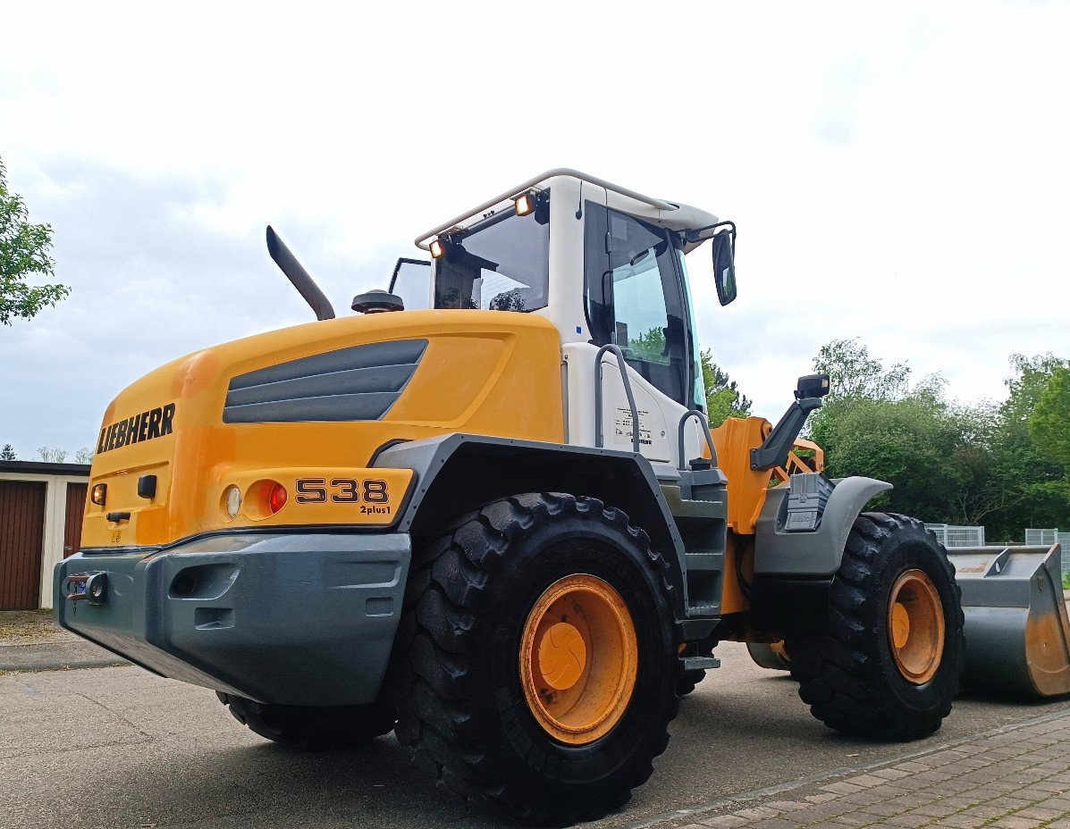
<path id="1" fill-rule="evenodd" d="M 944 604 L 922 570 L 901 573 L 888 604 L 888 644 L 903 678 L 924 685 L 944 656 Z"/>

